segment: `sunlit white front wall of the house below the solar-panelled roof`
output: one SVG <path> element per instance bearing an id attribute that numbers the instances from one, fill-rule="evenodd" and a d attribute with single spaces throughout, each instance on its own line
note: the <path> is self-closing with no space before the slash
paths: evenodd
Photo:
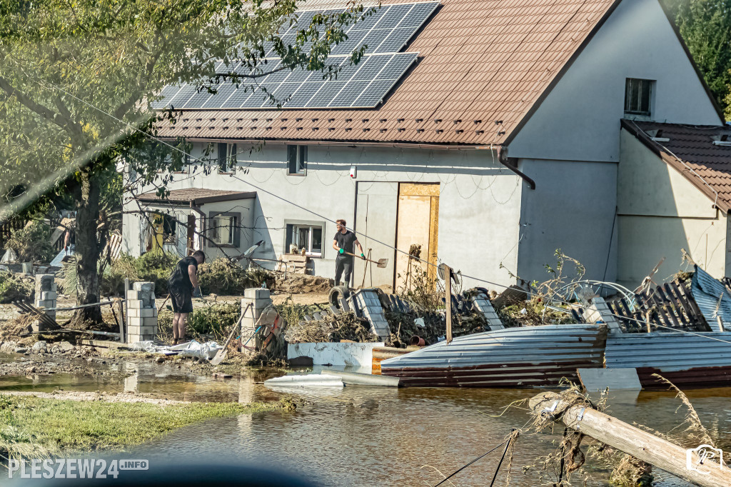
<path id="1" fill-rule="evenodd" d="M 200 154 L 201 146 L 201 143 L 194 143 L 194 156 Z M 438 183 L 440 261 L 470 276 L 479 276 L 499 284 L 513 282 L 507 271 L 499 266 L 504 263 L 507 268 L 514 269 L 517 265 L 521 180 L 501 166 L 492 151 L 309 146 L 305 176 L 287 175 L 287 151 L 284 145 L 269 144 L 249 154 L 248 148 L 239 143 L 237 151 L 239 155 L 235 175 L 214 172 L 195 178 L 184 176 L 170 184 L 168 189 L 193 186 L 257 192 L 251 216 L 251 241 L 263 240 L 265 244 L 257 250 L 255 257 L 281 257 L 287 223 L 344 218 L 348 226 L 352 227 L 356 211 L 356 183 L 361 194 L 368 192 L 371 182 L 392 183 L 390 186 L 393 188 L 398 188 L 399 182 Z M 352 165 L 357 167 L 355 179 L 349 177 Z M 249 172 L 244 173 L 245 169 Z M 250 181 L 258 188 L 245 181 Z M 287 203 L 280 197 L 307 210 Z M 390 228 L 395 208 L 392 208 L 391 203 L 382 204 L 385 205 L 383 224 L 378 224 L 378 215 L 371 212 L 368 228 L 372 231 L 368 230 L 368 233 L 371 238 L 389 243 L 389 240 L 393 241 L 395 230 Z M 208 208 L 204 209 L 208 211 Z M 135 241 L 136 237 L 132 234 L 138 233 L 139 228 L 135 227 L 131 219 L 126 219 L 125 223 L 124 241 Z M 332 277 L 334 274 L 336 252 L 331 244 L 335 233 L 335 225 L 328 221 L 323 232 L 324 256 L 313 259 L 317 275 Z M 366 247 L 374 248 L 373 257 L 376 260 L 389 258 L 389 265 L 393 265 L 393 250 L 382 255 L 382 252 L 388 252 L 387 248 L 379 248 L 363 235 L 360 240 Z M 244 249 L 240 250 L 243 252 Z M 405 246 L 404 251 L 408 252 L 408 246 Z M 393 267 L 391 273 L 389 281 L 393 282 Z M 355 279 L 358 285 L 362 278 L 360 274 Z M 465 284 L 479 283 L 466 279 Z"/>

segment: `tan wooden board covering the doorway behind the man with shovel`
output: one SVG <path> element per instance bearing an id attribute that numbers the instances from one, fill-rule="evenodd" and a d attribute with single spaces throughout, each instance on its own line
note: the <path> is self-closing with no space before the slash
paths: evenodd
<path id="1" fill-rule="evenodd" d="M 436 264 L 439 242 L 439 183 L 401 183 L 398 185 L 396 220 L 395 287 L 402 287 L 409 268 L 409 248 L 421 245 L 423 260 Z M 436 278 L 436 267 L 420 263 L 428 278 Z M 400 277 L 399 277 L 400 276 Z"/>

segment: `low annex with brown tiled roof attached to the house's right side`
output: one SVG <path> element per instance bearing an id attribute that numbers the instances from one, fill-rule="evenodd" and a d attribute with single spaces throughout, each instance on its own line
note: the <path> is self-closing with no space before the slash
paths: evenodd
<path id="1" fill-rule="evenodd" d="M 681 249 L 716 279 L 731 276 L 731 127 L 622 121 L 618 281 L 636 285 Z M 692 267 L 690 267 L 692 268 Z"/>

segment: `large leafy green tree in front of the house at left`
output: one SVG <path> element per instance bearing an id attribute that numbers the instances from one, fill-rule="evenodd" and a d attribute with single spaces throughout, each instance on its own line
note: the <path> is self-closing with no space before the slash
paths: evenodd
<path id="1" fill-rule="evenodd" d="M 251 86 L 270 72 L 269 48 L 282 60 L 278 69 L 332 75 L 331 48 L 346 39 L 346 26 L 371 13 L 355 4 L 318 13 L 296 38 L 283 39 L 297 8 L 297 0 L 0 2 L 0 196 L 24 190 L 0 203 L 0 220 L 53 192 L 72 197 L 78 303 L 99 301 L 97 261 L 108 229 L 102 188 L 122 156 L 145 143 L 138 130 L 154 132 L 163 118 L 151 103 L 165 85 Z M 234 72 L 239 62 L 246 69 Z M 170 109 L 164 117 L 175 115 Z M 157 178 L 156 164 L 175 164 L 161 160 L 135 159 L 137 182 Z M 75 320 L 98 321 L 101 313 L 82 309 Z"/>

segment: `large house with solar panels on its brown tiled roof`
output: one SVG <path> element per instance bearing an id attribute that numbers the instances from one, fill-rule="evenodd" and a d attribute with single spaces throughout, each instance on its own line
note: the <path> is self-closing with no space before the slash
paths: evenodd
<path id="1" fill-rule="evenodd" d="M 159 135 L 193 146 L 169 189 L 254 192 L 253 223 L 233 229 L 229 253 L 263 240 L 254 257 L 275 259 L 296 246 L 323 276 L 336 257 L 326 219 L 344 218 L 390 259 L 366 284 L 400 283 L 408 259 L 391 247 L 413 243 L 431 263 L 499 284 L 544 279 L 558 248 L 589 278 L 617 279 L 621 119 L 722 123 L 658 1 L 385 3 L 349 32 L 368 55 L 338 80 L 262 80 L 292 95 L 281 109 L 233 86 L 165 88 L 159 106 L 182 115 Z M 206 158 L 219 170 L 200 174 Z M 136 219 L 124 217 L 133 254 L 145 251 Z"/>

